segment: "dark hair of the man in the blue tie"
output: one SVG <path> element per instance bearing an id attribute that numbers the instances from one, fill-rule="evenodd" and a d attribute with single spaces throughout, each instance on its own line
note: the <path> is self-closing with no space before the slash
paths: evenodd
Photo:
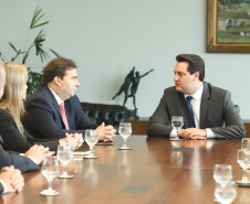
<path id="1" fill-rule="evenodd" d="M 177 62 L 187 62 L 187 71 L 190 74 L 199 72 L 199 80 L 202 82 L 205 78 L 205 63 L 204 60 L 196 54 L 179 54 L 176 56 Z"/>

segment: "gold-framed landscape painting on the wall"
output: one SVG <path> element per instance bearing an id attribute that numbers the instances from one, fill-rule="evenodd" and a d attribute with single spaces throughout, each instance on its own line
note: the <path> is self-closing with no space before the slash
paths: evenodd
<path id="1" fill-rule="evenodd" d="M 207 2 L 207 52 L 250 53 L 250 0 Z"/>

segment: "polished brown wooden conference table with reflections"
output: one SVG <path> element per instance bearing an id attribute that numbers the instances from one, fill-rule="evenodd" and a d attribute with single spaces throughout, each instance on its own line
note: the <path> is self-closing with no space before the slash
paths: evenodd
<path id="1" fill-rule="evenodd" d="M 48 182 L 40 171 L 24 173 L 25 186 L 19 194 L 7 194 L 7 204 L 144 204 L 213 203 L 216 163 L 232 164 L 233 180 L 243 171 L 237 163 L 241 140 L 173 142 L 168 138 L 131 136 L 133 150 L 114 146 L 96 146 L 98 159 L 73 160 L 69 173 L 74 179 L 56 179 L 58 196 L 41 196 Z M 84 144 L 87 147 L 86 144 Z M 250 187 L 237 187 L 233 203 L 250 203 Z"/>

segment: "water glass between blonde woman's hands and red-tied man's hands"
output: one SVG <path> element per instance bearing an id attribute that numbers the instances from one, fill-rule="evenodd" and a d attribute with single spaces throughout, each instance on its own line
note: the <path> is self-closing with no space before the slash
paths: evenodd
<path id="1" fill-rule="evenodd" d="M 98 142 L 98 130 L 85 130 L 85 141 L 90 146 L 91 153 L 85 159 L 97 159 L 94 153 L 94 146 Z"/>

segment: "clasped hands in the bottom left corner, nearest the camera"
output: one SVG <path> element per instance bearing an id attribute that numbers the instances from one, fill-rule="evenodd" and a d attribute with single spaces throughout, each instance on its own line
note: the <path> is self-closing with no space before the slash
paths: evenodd
<path id="1" fill-rule="evenodd" d="M 7 193 L 21 192 L 24 186 L 24 179 L 21 171 L 13 165 L 2 168 L 0 180 L 4 182 Z"/>

